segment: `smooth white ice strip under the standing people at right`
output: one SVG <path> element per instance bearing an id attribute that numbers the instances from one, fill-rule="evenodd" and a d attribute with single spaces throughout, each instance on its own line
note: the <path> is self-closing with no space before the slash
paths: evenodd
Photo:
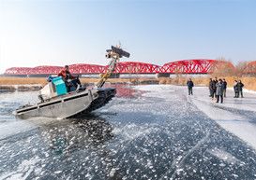
<path id="1" fill-rule="evenodd" d="M 247 98 L 237 99 L 233 98 L 233 92 L 229 91 L 227 98 L 224 98 L 224 104 L 216 104 L 209 98 L 208 93 L 206 88 L 197 88 L 194 90 L 194 96 L 190 97 L 191 102 L 209 118 L 216 120 L 222 128 L 256 148 L 256 125 L 250 122 L 256 119 L 247 118 L 246 112 L 235 113 L 235 109 L 256 111 L 255 97 L 245 94 Z M 229 111 L 227 107 L 234 110 Z"/>

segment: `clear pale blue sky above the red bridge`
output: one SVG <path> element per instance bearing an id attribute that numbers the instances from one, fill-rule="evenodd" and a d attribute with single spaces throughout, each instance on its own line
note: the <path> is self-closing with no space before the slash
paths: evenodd
<path id="1" fill-rule="evenodd" d="M 16 66 L 256 60 L 254 0 L 0 0 L 0 74 Z"/>

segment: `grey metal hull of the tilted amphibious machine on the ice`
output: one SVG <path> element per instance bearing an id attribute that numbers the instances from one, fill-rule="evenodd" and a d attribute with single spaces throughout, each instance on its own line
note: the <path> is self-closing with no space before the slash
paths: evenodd
<path id="1" fill-rule="evenodd" d="M 16 110 L 18 118 L 47 117 L 73 118 L 82 116 L 107 104 L 115 95 L 115 89 L 83 90 L 51 101 L 24 106 Z"/>

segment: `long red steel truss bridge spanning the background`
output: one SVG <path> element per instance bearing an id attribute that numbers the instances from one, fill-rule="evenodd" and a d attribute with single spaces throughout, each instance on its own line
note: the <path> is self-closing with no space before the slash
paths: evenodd
<path id="1" fill-rule="evenodd" d="M 256 67 L 256 62 L 253 62 Z M 217 60 L 182 60 L 165 63 L 162 66 L 145 62 L 118 62 L 114 74 L 211 74 L 221 66 L 234 69 L 232 62 Z M 98 64 L 78 63 L 69 65 L 70 72 L 77 75 L 98 75 L 105 72 L 108 66 Z M 61 66 L 37 66 L 37 67 L 11 67 L 6 76 L 46 76 L 56 75 L 62 69 Z M 254 70 L 255 71 L 255 70 Z"/>

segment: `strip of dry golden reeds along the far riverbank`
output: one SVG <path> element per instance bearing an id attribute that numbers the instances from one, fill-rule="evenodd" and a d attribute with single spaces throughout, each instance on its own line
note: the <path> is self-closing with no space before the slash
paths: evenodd
<path id="1" fill-rule="evenodd" d="M 222 78 L 222 77 L 221 77 Z M 99 78 L 81 78 L 83 84 L 92 85 Z M 247 90 L 256 90 L 256 77 L 226 76 L 228 87 L 233 87 L 234 79 L 241 79 Z M 160 77 L 160 78 L 109 78 L 107 82 L 112 84 L 173 84 L 185 86 L 188 76 Z M 195 86 L 208 86 L 209 77 L 192 77 Z M 0 77 L 0 90 L 40 90 L 46 85 L 45 77 Z"/>

